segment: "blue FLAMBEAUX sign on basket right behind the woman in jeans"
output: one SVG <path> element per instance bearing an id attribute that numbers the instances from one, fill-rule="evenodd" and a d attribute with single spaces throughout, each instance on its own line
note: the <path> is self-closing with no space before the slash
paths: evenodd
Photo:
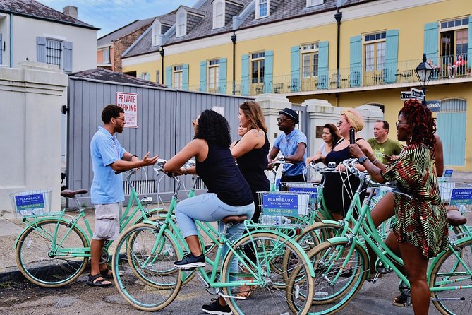
<path id="1" fill-rule="evenodd" d="M 264 194 L 262 196 L 264 215 L 298 215 L 297 194 Z"/>

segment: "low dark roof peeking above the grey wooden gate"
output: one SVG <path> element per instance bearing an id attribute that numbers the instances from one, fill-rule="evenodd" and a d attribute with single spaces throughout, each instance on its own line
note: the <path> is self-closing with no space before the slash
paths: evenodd
<path id="1" fill-rule="evenodd" d="M 127 74 L 120 72 L 113 72 L 108 69 L 95 68 L 80 72 L 75 72 L 69 74 L 74 78 L 87 78 L 99 81 L 111 81 L 116 83 L 126 83 L 134 85 L 145 85 L 145 86 L 154 86 L 159 88 L 167 88 L 167 85 L 155 83 L 152 81 L 143 80 L 140 78 L 135 78 L 134 76 L 128 76 Z"/>

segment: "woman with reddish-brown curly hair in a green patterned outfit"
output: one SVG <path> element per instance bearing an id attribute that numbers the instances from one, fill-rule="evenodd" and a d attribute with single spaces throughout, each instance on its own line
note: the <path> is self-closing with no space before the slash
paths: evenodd
<path id="1" fill-rule="evenodd" d="M 447 214 L 433 165 L 436 124 L 418 100 L 406 100 L 396 125 L 397 138 L 406 141 L 406 147 L 388 165 L 373 154 L 366 157 L 356 144 L 350 145 L 350 152 L 377 182 L 397 181 L 399 189 L 413 197 L 394 196 L 397 223 L 385 244 L 403 259 L 413 311 L 422 315 L 428 314 L 430 304 L 428 260 L 448 248 Z"/>

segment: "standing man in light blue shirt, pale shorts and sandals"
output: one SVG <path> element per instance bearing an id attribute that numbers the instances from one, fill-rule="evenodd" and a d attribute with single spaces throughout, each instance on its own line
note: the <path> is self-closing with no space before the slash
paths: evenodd
<path id="1" fill-rule="evenodd" d="M 104 241 L 119 236 L 119 203 L 124 200 L 123 175 L 115 171 L 154 165 L 159 155 L 150 158 L 146 153 L 143 160 L 138 155 L 126 152 L 115 133 L 122 133 L 125 112 L 116 105 L 107 105 L 102 111 L 103 126 L 90 142 L 93 181 L 90 188 L 92 203 L 95 205 L 95 230 L 90 246 L 91 271 L 87 285 L 103 287 L 111 285 L 106 279 L 113 278 L 107 263 L 100 263 Z"/>

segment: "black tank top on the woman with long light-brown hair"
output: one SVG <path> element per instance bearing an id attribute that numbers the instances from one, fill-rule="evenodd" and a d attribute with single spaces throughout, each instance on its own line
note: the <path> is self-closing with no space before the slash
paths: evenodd
<path id="1" fill-rule="evenodd" d="M 237 141 L 236 143 L 238 143 Z M 265 135 L 265 143 L 261 148 L 250 150 L 245 155 L 241 155 L 238 161 L 239 170 L 243 174 L 244 179 L 248 182 L 250 190 L 256 191 L 269 190 L 270 182 L 265 176 L 267 170 L 267 155 L 269 155 L 269 139 Z"/>

